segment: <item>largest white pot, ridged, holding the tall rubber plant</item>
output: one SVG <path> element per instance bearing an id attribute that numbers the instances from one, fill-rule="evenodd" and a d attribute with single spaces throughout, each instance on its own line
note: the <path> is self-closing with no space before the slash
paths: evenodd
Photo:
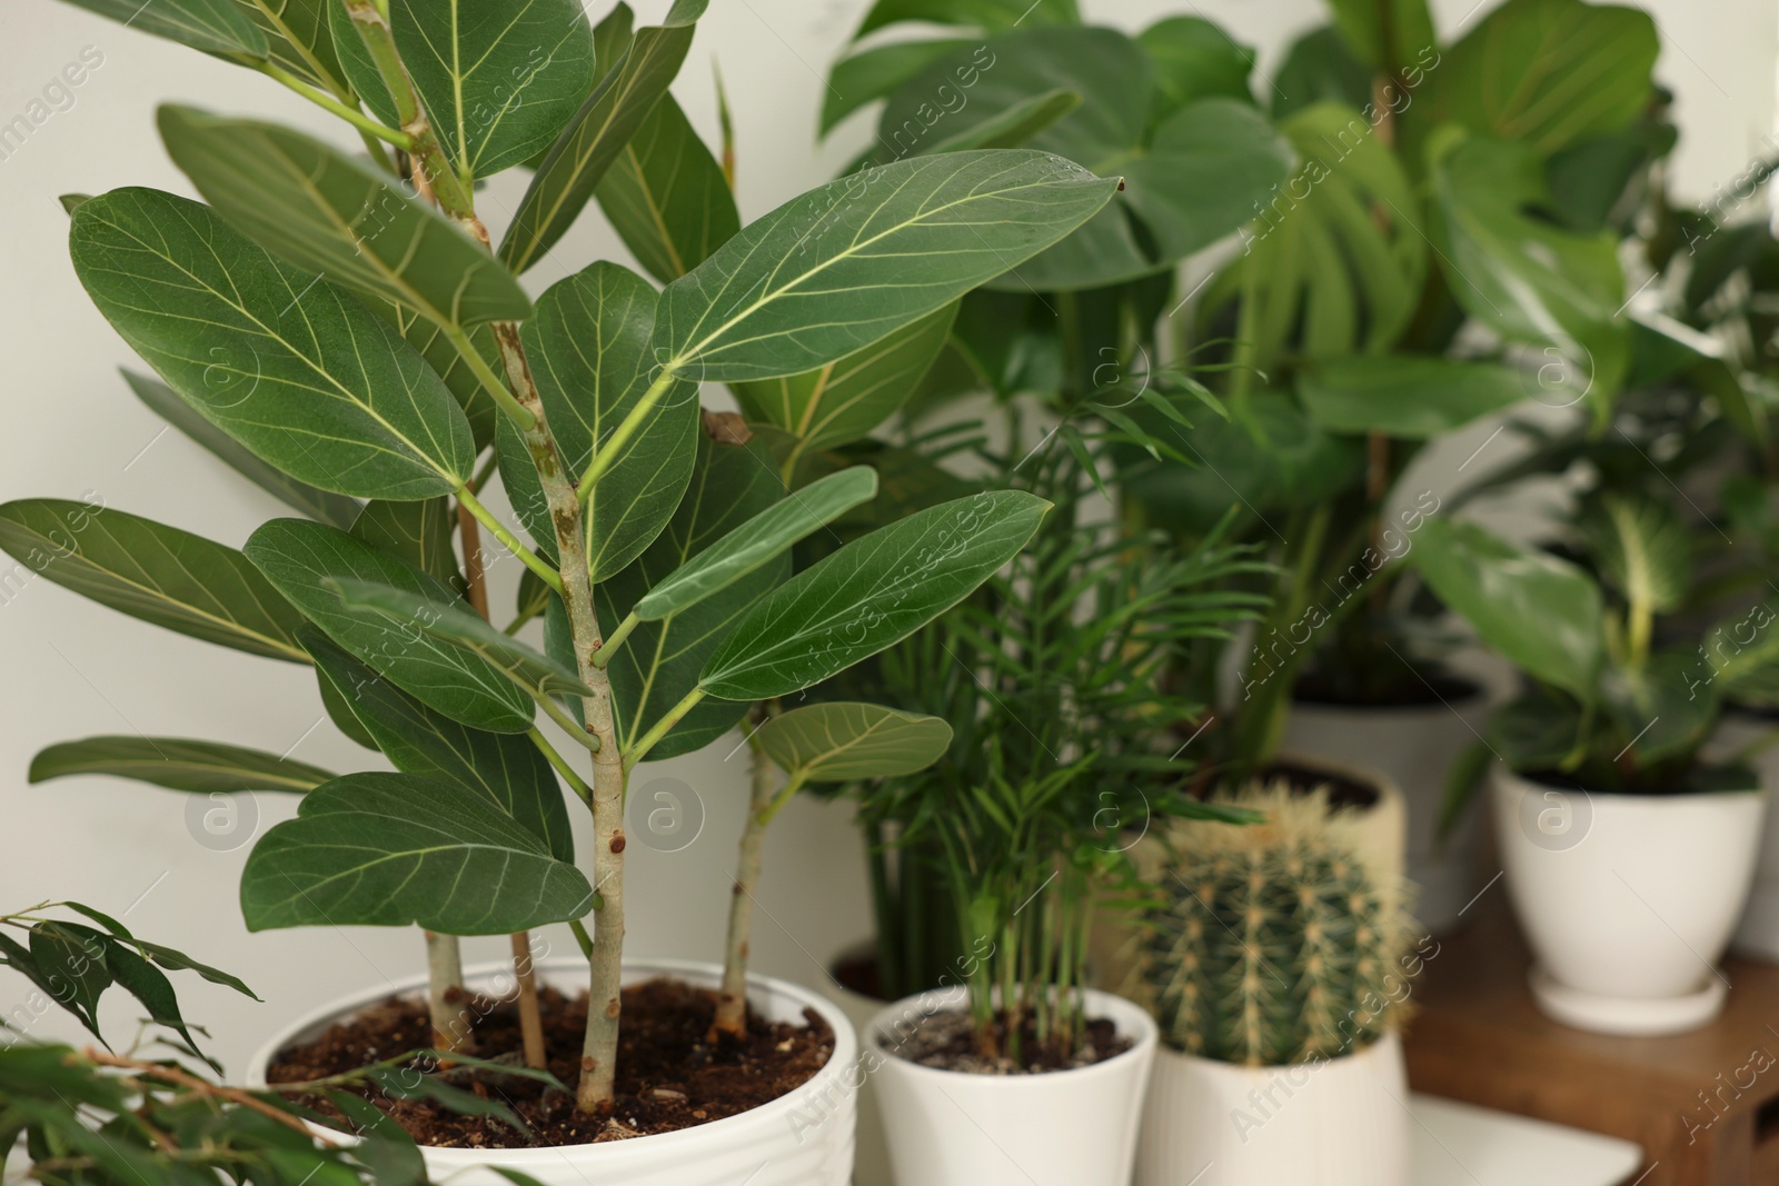
<path id="1" fill-rule="evenodd" d="M 587 964 L 578 958 L 541 960 L 541 982 L 564 992 L 587 983 Z M 624 964 L 624 980 L 672 976 L 694 985 L 717 987 L 722 969 L 692 960 L 635 960 Z M 470 969 L 470 989 L 511 994 L 512 966 Z M 820 1014 L 834 1031 L 834 1053 L 820 1072 L 795 1092 L 737 1117 L 712 1120 L 678 1133 L 637 1136 L 598 1145 L 548 1149 L 432 1149 L 423 1147 L 427 1174 L 454 1186 L 511 1186 L 491 1166 L 530 1174 L 544 1186 L 847 1186 L 852 1179 L 852 1126 L 857 1102 L 859 1044 L 847 1015 L 824 998 L 783 980 L 749 976 L 749 1003 L 772 1021 L 801 1022 L 806 1008 Z M 267 1042 L 247 1067 L 247 1085 L 265 1085 L 265 1067 L 294 1042 L 311 1040 L 329 1024 L 382 1001 L 391 992 L 422 992 L 425 976 L 393 987 L 365 989 L 302 1017 Z"/>

